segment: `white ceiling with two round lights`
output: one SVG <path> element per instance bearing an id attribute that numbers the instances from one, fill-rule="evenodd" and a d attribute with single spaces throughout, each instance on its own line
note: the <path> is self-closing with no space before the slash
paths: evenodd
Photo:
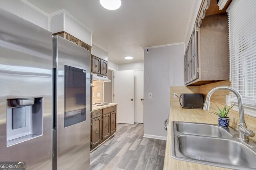
<path id="1" fill-rule="evenodd" d="M 61 9 L 90 28 L 92 43 L 116 63 L 144 60 L 143 47 L 184 42 L 196 0 L 121 0 L 107 10 L 99 0 L 28 0 L 48 14 Z M 126 60 L 125 56 L 134 59 Z"/>

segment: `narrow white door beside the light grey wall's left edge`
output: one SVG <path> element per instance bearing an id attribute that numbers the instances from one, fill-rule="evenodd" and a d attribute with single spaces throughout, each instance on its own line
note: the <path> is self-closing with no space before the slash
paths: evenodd
<path id="1" fill-rule="evenodd" d="M 134 122 L 144 123 L 144 71 L 134 71 Z"/>

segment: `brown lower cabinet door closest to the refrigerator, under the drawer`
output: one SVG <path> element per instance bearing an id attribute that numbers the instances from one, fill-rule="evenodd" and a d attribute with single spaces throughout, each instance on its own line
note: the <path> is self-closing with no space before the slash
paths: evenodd
<path id="1" fill-rule="evenodd" d="M 91 128 L 91 148 L 98 146 L 101 142 L 101 131 L 102 131 L 102 118 L 98 117 L 92 119 Z"/>

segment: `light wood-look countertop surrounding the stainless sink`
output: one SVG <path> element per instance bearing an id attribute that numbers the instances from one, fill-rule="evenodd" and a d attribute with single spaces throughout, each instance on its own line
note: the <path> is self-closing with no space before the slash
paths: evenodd
<path id="1" fill-rule="evenodd" d="M 218 119 L 212 113 L 201 109 L 182 109 L 181 106 L 171 106 L 164 156 L 164 170 L 227 170 L 216 166 L 176 160 L 171 157 L 171 125 L 172 121 L 197 122 L 217 124 Z"/>

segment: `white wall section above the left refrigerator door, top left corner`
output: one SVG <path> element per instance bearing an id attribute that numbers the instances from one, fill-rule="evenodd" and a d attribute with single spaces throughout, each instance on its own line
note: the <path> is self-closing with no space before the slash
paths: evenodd
<path id="1" fill-rule="evenodd" d="M 0 8 L 48 30 L 47 14 L 32 4 L 28 5 L 20 0 L 0 0 Z"/>

